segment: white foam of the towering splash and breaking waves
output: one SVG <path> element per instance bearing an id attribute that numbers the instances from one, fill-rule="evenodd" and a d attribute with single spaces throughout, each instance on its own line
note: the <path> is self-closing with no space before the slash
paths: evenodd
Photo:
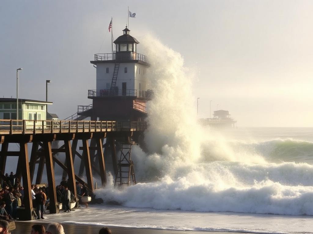
<path id="1" fill-rule="evenodd" d="M 280 145 L 312 150 L 313 144 L 246 143 L 200 127 L 192 105 L 194 76 L 182 56 L 152 37 L 143 42 L 155 98 L 147 103 L 149 152 L 132 152 L 137 178 L 148 182 L 124 190 L 111 183 L 97 195 L 129 207 L 313 215 L 313 167 L 272 162 Z"/>

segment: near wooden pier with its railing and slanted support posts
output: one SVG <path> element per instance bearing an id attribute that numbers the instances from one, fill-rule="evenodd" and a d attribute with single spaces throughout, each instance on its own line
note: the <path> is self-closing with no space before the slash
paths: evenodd
<path id="1" fill-rule="evenodd" d="M 75 182 L 79 181 L 94 190 L 92 172 L 96 171 L 101 178 L 102 185 L 106 183 L 105 155 L 103 153 L 103 139 L 110 145 L 113 166 L 117 167 L 115 139 L 130 139 L 134 132 L 146 129 L 145 122 L 118 122 L 118 121 L 46 121 L 46 120 L 8 120 L 0 119 L 0 171 L 5 172 L 8 156 L 17 156 L 18 164 L 16 178 L 23 179 L 25 220 L 32 220 L 33 202 L 31 197 L 31 182 L 34 178 L 35 164 L 38 165 L 36 183 L 41 183 L 44 165 L 46 165 L 50 213 L 58 213 L 56 199 L 56 184 L 54 179 L 54 163 L 57 163 L 68 174 L 69 189 L 77 197 Z M 89 139 L 92 139 L 89 144 Z M 63 141 L 64 144 L 58 149 L 52 149 L 53 141 Z M 78 141 L 82 141 L 83 154 L 76 150 Z M 8 151 L 9 143 L 19 144 L 19 151 Z M 28 157 L 28 143 L 32 143 L 31 155 Z M 92 145 L 91 145 L 92 144 Z M 41 148 L 39 148 L 41 147 Z M 95 154 L 97 151 L 97 154 Z M 61 162 L 55 157 L 58 152 L 65 152 L 65 161 Z M 90 152 L 93 152 L 90 154 Z M 84 162 L 87 182 L 80 178 L 74 171 L 74 157 L 79 156 Z M 99 166 L 95 165 L 98 158 Z M 116 165 L 115 165 L 116 164 Z M 84 170 L 84 167 L 82 170 Z"/>

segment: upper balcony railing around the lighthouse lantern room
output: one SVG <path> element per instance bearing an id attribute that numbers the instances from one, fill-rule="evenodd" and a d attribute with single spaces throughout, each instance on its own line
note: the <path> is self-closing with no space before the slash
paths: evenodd
<path id="1" fill-rule="evenodd" d="M 95 61 L 115 61 L 115 60 L 118 61 L 137 60 L 149 63 L 147 56 L 131 51 L 121 51 L 117 53 L 116 51 L 114 51 L 113 54 L 112 53 L 95 54 Z"/>

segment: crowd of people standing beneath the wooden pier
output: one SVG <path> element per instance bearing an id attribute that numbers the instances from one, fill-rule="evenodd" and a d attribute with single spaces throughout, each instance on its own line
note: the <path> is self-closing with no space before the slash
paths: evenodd
<path id="1" fill-rule="evenodd" d="M 13 172 L 5 174 L 2 185 L 0 184 L 0 220 L 16 220 L 18 218 L 18 208 L 24 207 L 24 188 L 18 178 L 15 178 Z M 49 188 L 38 188 L 36 185 L 31 186 L 33 207 L 36 209 L 35 216 L 37 219 L 44 219 L 46 209 L 49 209 Z M 88 188 L 84 184 L 76 182 L 78 196 L 88 196 Z M 64 212 L 70 212 L 70 202 L 78 202 L 68 188 L 68 181 L 65 178 L 56 187 L 57 202 L 62 203 Z M 86 207 L 88 204 L 85 203 Z"/>

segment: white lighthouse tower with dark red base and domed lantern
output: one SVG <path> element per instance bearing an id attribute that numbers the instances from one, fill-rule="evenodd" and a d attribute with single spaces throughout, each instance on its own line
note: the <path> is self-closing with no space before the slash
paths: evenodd
<path id="1" fill-rule="evenodd" d="M 145 55 L 137 53 L 139 41 L 129 32 L 126 26 L 114 41 L 113 54 L 95 54 L 90 61 L 96 67 L 96 90 L 88 90 L 92 119 L 139 121 L 146 115 L 149 63 Z"/>

